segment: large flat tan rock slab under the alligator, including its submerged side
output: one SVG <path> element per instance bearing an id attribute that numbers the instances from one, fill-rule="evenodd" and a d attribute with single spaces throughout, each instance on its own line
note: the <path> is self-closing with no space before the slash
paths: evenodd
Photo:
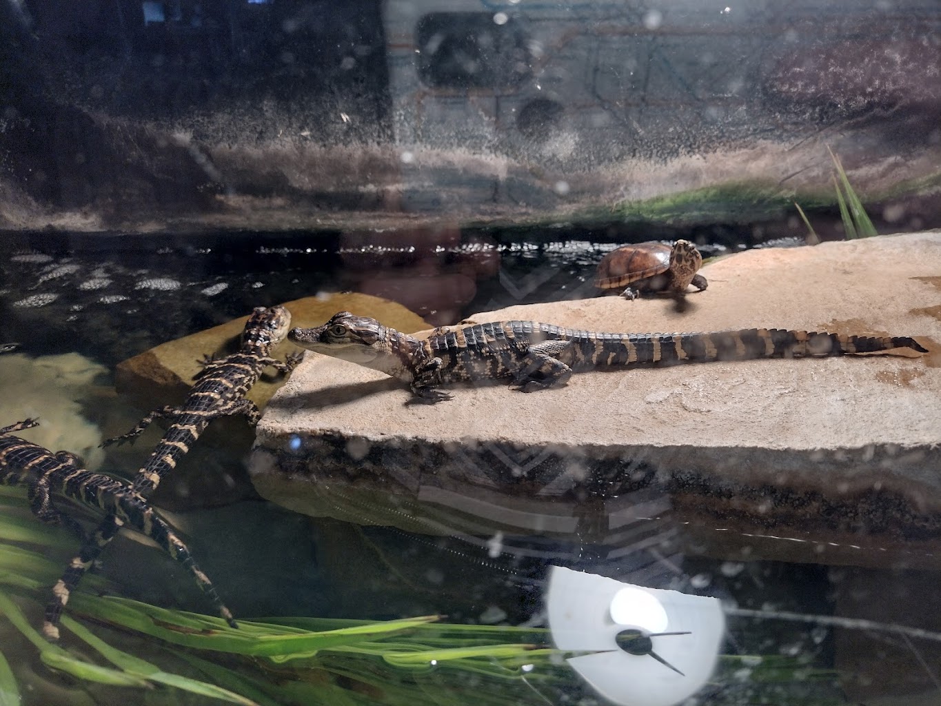
<path id="1" fill-rule="evenodd" d="M 624 498 L 656 482 L 710 527 L 696 538 L 707 552 L 734 549 L 717 521 L 740 537 L 789 532 L 796 542 L 747 548 L 777 555 L 787 543 L 791 560 L 865 564 L 861 535 L 884 554 L 941 539 L 941 233 L 750 250 L 702 274 L 709 289 L 691 293 L 685 313 L 670 300 L 599 297 L 471 318 L 888 333 L 932 352 L 611 369 L 529 394 L 455 386 L 435 406 L 407 406 L 397 381 L 308 353 L 258 427 L 255 487 L 311 515 L 603 543 L 614 516 L 630 515 Z M 756 522 L 778 531 L 756 533 Z M 795 553 L 801 542 L 811 556 Z"/>

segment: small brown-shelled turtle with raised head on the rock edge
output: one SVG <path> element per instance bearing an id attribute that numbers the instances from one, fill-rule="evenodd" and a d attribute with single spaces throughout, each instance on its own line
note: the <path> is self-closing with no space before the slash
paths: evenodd
<path id="1" fill-rule="evenodd" d="M 682 297 L 693 284 L 701 292 L 709 282 L 696 271 L 703 263 L 699 250 L 688 240 L 624 245 L 598 263 L 598 289 L 620 289 L 621 297 L 635 299 L 642 292 L 663 292 Z"/>

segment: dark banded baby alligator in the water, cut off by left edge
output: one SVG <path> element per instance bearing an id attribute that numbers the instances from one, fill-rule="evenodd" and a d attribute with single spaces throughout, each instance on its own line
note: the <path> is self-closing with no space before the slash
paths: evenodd
<path id="1" fill-rule="evenodd" d="M 82 548 L 53 587 L 53 598 L 46 606 L 42 623 L 43 634 L 50 639 L 58 639 L 58 621 L 66 602 L 69 601 L 69 595 L 101 554 L 104 546 L 114 537 L 113 534 L 104 536 L 98 532 L 90 537 L 86 535 L 78 522 L 63 515 L 52 504 L 53 492 L 84 505 L 103 509 L 109 517 L 115 519 L 115 534 L 126 522 L 141 534 L 152 538 L 167 554 L 183 564 L 213 602 L 219 614 L 234 627 L 231 612 L 219 599 L 206 574 L 196 566 L 186 545 L 140 495 L 114 478 L 84 470 L 80 467 L 78 458 L 66 451 L 57 451 L 54 454 L 38 444 L 12 436 L 15 431 L 37 425 L 39 423 L 35 419 L 27 419 L 0 428 L 0 483 L 26 486 L 33 514 L 41 521 L 62 524 L 82 538 Z"/>

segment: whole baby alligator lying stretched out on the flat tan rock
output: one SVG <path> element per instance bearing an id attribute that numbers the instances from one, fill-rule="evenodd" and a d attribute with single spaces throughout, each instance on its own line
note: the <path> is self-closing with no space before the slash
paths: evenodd
<path id="1" fill-rule="evenodd" d="M 785 329 L 596 333 L 533 321 L 437 329 L 429 338 L 417 339 L 349 312 L 336 313 L 315 329 L 292 329 L 288 339 L 397 377 L 427 402 L 450 399 L 452 395 L 437 389 L 449 382 L 509 379 L 531 393 L 565 383 L 573 371 L 607 365 L 841 356 L 893 348 L 928 352 L 911 338 Z"/>

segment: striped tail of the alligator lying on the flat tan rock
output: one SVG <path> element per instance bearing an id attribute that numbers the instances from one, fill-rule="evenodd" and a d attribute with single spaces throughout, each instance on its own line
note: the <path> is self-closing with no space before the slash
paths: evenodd
<path id="1" fill-rule="evenodd" d="M 593 364 L 681 361 L 747 361 L 756 358 L 805 358 L 875 353 L 894 348 L 928 351 L 908 337 L 851 336 L 787 329 L 742 329 L 711 333 L 631 333 L 600 341 Z"/>

